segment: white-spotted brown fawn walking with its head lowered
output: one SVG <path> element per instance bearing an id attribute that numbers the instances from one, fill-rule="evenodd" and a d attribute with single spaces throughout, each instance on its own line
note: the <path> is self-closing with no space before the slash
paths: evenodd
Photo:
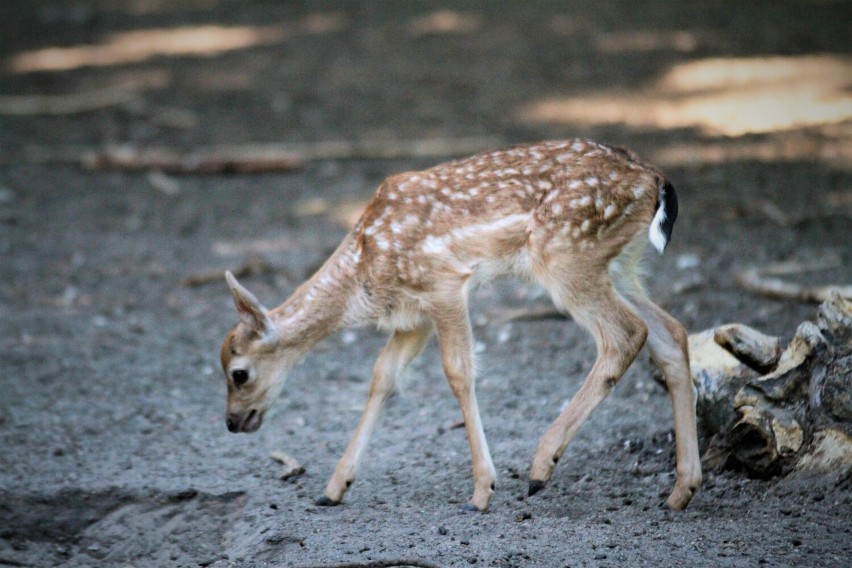
<path id="1" fill-rule="evenodd" d="M 468 294 L 477 282 L 518 276 L 541 284 L 597 346 L 582 387 L 541 438 L 529 494 L 545 486 L 647 340 L 673 406 L 677 480 L 668 505 L 683 509 L 701 484 L 687 335 L 648 299 L 639 274 L 648 241 L 662 253 L 676 217 L 674 188 L 657 169 L 588 140 L 516 146 L 392 176 L 336 252 L 277 308 L 225 275 L 239 315 L 221 349 L 228 429 L 257 430 L 287 372 L 321 339 L 367 323 L 390 331 L 364 413 L 317 501 L 336 505 L 395 379 L 434 330 L 472 454 L 465 509 L 485 511 L 496 473 L 476 402 Z"/>

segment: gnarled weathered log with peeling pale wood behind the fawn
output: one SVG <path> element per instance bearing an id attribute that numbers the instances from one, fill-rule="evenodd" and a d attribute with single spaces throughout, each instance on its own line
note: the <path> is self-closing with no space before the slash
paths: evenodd
<path id="1" fill-rule="evenodd" d="M 852 302 L 831 294 L 783 351 L 739 324 L 691 335 L 689 347 L 715 465 L 756 477 L 852 471 Z"/>

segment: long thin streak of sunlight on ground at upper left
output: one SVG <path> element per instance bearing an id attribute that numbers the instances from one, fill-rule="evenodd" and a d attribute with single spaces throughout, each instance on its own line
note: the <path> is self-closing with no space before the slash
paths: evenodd
<path id="1" fill-rule="evenodd" d="M 183 26 L 118 32 L 97 44 L 25 51 L 10 57 L 6 68 L 13 73 L 32 73 L 140 63 L 161 56 L 211 57 L 278 43 L 297 33 L 330 33 L 345 26 L 345 18 L 331 12 L 309 14 L 292 25 Z"/>

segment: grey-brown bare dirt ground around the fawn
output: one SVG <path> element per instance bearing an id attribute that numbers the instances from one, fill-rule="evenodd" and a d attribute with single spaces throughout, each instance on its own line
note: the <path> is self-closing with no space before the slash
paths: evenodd
<path id="1" fill-rule="evenodd" d="M 44 158 L 108 143 L 591 137 L 678 189 L 652 296 L 690 331 L 737 321 L 789 338 L 815 307 L 748 294 L 732 274 L 821 259 L 791 278 L 852 281 L 850 21 L 852 5 L 830 1 L 3 2 L 0 566 L 849 566 L 848 477 L 708 472 L 688 510 L 663 506 L 671 407 L 644 354 L 527 498 L 539 436 L 594 348 L 570 321 L 489 323 L 547 305 L 519 282 L 474 298 L 491 510 L 461 511 L 469 451 L 434 343 L 344 504 L 316 507 L 383 335 L 324 341 L 263 428 L 233 435 L 217 360 L 232 301 L 218 278 L 183 281 L 259 257 L 277 269 L 243 283 L 275 305 L 383 177 L 440 158 L 170 177 Z M 132 98 L 75 113 L 15 115 L 5 98 L 116 85 Z M 279 480 L 273 451 L 306 473 Z"/>

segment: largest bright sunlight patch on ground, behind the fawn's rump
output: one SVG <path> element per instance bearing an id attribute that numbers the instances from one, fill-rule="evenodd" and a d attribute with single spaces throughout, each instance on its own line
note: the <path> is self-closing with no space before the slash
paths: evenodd
<path id="1" fill-rule="evenodd" d="M 852 119 L 852 58 L 714 58 L 677 64 L 649 87 L 550 98 L 522 119 L 561 124 L 698 127 L 738 136 Z"/>

